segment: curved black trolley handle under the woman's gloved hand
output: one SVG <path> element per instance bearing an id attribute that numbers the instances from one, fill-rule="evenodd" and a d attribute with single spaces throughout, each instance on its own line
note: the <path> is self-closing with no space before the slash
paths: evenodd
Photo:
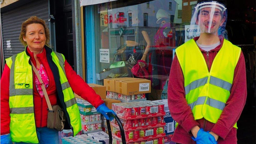
<path id="1" fill-rule="evenodd" d="M 119 128 L 120 128 L 122 144 L 126 144 L 125 135 L 124 135 L 124 128 L 122 126 L 122 123 L 121 123 L 120 119 L 115 114 L 108 113 L 108 115 L 109 116 L 113 116 L 116 119 L 116 121 L 117 121 L 117 123 L 119 125 Z M 112 144 L 113 138 L 112 138 L 112 132 L 111 132 L 111 127 L 110 127 L 110 121 L 109 120 L 107 120 L 107 127 L 108 127 L 108 135 L 109 135 L 109 144 Z"/>

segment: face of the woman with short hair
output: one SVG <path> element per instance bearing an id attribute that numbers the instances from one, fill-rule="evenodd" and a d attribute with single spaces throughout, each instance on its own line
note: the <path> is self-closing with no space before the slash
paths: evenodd
<path id="1" fill-rule="evenodd" d="M 42 50 L 46 42 L 44 26 L 35 23 L 27 25 L 23 40 L 27 42 L 30 50 Z"/>

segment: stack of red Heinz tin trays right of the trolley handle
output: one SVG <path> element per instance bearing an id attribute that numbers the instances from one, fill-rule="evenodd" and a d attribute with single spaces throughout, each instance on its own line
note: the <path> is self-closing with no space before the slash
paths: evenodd
<path id="1" fill-rule="evenodd" d="M 125 131 L 127 143 L 163 143 L 165 122 L 164 104 L 153 101 L 132 103 L 113 103 L 112 109 L 120 118 Z M 121 140 L 120 129 L 115 120 L 112 135 L 115 142 Z"/>

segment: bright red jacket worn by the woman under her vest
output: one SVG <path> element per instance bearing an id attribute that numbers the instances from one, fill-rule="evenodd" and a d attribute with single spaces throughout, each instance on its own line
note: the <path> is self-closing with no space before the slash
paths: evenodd
<path id="1" fill-rule="evenodd" d="M 30 56 L 30 60 L 36 65 L 34 54 L 29 49 L 27 52 Z M 53 73 L 50 69 L 49 63 L 46 58 L 46 50 L 44 49 L 42 53 L 36 55 L 39 62 L 44 66 L 45 71 L 49 77 L 49 86 L 46 88 L 47 94 L 49 96 L 51 105 L 57 104 L 57 91 Z M 91 103 L 95 108 L 100 104 L 103 104 L 100 96 L 95 93 L 95 91 L 88 86 L 84 80 L 76 74 L 72 67 L 65 60 L 65 71 L 70 87 L 73 92 L 80 95 L 83 99 Z M 35 77 L 33 71 L 33 77 Z M 10 133 L 10 108 L 9 108 L 9 77 L 10 77 L 10 68 L 5 65 L 4 71 L 1 77 L 1 135 Z M 39 93 L 36 90 L 35 82 L 33 84 L 34 91 L 34 109 L 35 109 L 35 123 L 36 127 L 45 127 L 47 126 L 47 113 L 48 106 L 45 100 L 45 97 L 41 98 Z"/>

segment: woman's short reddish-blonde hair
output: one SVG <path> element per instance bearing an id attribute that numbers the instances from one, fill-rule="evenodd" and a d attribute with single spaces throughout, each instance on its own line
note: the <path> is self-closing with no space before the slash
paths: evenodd
<path id="1" fill-rule="evenodd" d="M 27 45 L 27 43 L 23 40 L 23 37 L 26 37 L 26 28 L 29 24 L 41 24 L 42 26 L 44 26 L 45 37 L 46 37 L 45 45 L 49 46 L 49 42 L 50 42 L 49 29 L 46 27 L 45 21 L 43 19 L 40 19 L 40 18 L 36 17 L 36 16 L 32 16 L 32 17 L 28 18 L 21 25 L 19 40 L 22 43 L 22 45 L 24 45 L 24 46 Z"/>

